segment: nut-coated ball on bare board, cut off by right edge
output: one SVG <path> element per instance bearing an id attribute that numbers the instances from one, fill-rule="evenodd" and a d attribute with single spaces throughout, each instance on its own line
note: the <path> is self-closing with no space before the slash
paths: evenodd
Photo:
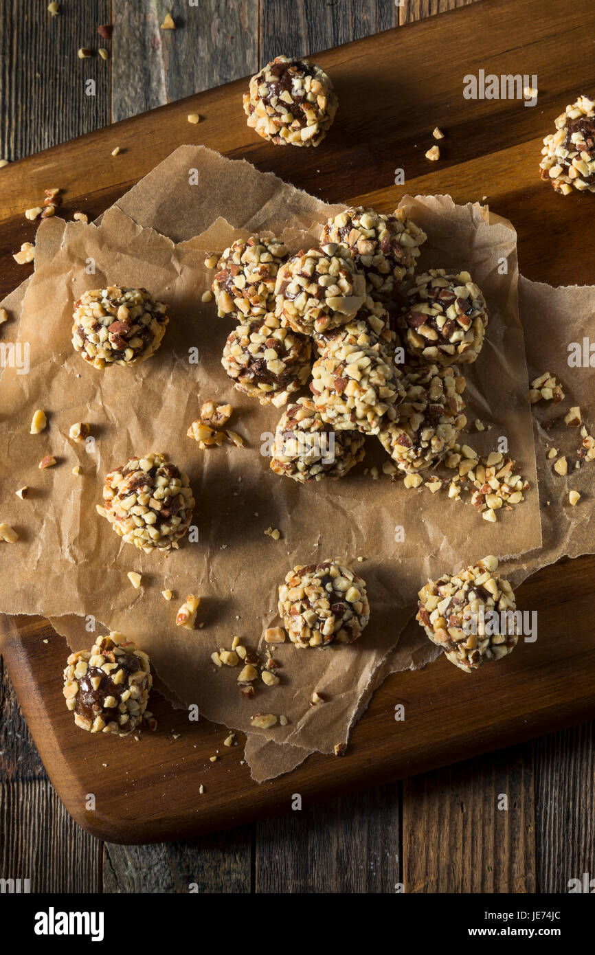
<path id="1" fill-rule="evenodd" d="M 572 187 L 595 192 L 595 97 L 579 96 L 543 139 L 542 179 L 567 196 Z"/>

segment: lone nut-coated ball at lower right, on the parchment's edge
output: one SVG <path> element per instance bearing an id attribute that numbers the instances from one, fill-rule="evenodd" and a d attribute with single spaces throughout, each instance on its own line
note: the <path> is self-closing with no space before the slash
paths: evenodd
<path id="1" fill-rule="evenodd" d="M 517 646 L 516 606 L 511 585 L 499 577 L 498 560 L 490 556 L 429 581 L 419 591 L 415 620 L 451 663 L 470 673 Z"/>

